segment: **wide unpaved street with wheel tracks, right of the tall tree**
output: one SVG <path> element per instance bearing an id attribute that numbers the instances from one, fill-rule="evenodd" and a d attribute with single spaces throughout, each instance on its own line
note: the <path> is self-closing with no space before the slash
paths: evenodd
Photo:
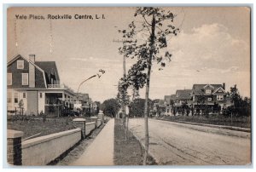
<path id="1" fill-rule="evenodd" d="M 143 118 L 129 128 L 144 144 Z M 245 165 L 251 163 L 251 134 L 148 119 L 149 153 L 159 164 Z"/>

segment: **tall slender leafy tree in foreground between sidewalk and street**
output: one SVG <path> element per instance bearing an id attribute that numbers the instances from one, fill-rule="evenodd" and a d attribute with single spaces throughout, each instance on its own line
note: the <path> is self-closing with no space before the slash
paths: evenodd
<path id="1" fill-rule="evenodd" d="M 155 60 L 160 64 L 160 70 L 166 66 L 166 60 L 171 61 L 172 54 L 164 49 L 167 47 L 166 37 L 168 35 L 177 35 L 179 29 L 173 26 L 173 20 L 176 15 L 171 11 L 161 8 L 140 7 L 134 14 L 138 19 L 143 20 L 136 25 L 134 21 L 129 24 L 127 30 L 119 30 L 125 40 L 119 53 L 132 59 L 137 58 L 136 64 L 131 66 L 125 83 L 133 85 L 140 89 L 146 87 L 145 107 L 144 107 L 144 125 L 145 125 L 145 154 L 143 164 L 147 163 L 148 158 L 148 95 L 150 74 L 152 62 Z M 137 28 L 139 28 L 137 30 Z M 148 37 L 147 40 L 138 41 L 137 33 L 142 33 Z"/>

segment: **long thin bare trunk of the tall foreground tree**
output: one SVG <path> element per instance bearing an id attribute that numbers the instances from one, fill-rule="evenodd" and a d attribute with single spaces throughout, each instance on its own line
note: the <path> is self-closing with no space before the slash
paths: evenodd
<path id="1" fill-rule="evenodd" d="M 144 109 L 144 125 L 145 125 L 145 154 L 143 158 L 143 165 L 147 164 L 148 158 L 148 146 L 149 146 L 149 135 L 148 135 L 148 95 L 149 95 L 149 83 L 150 83 L 150 73 L 152 66 L 152 56 L 154 50 L 154 28 L 155 28 L 155 16 L 153 14 L 152 20 L 152 32 L 150 35 L 150 54 L 148 58 L 148 75 L 147 75 L 147 83 L 146 83 L 146 94 L 145 94 L 145 109 Z"/>

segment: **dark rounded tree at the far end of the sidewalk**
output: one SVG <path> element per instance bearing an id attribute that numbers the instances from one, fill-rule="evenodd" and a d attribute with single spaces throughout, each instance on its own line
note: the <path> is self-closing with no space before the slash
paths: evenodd
<path id="1" fill-rule="evenodd" d="M 105 115 L 113 118 L 119 112 L 120 106 L 116 99 L 108 99 L 103 101 L 101 109 Z"/>

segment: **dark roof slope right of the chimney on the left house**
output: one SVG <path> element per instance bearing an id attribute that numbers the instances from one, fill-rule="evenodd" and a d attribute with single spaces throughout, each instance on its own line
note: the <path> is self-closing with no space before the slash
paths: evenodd
<path id="1" fill-rule="evenodd" d="M 36 61 L 35 65 L 43 69 L 48 77 L 50 77 L 50 74 L 55 74 L 56 80 L 60 81 L 55 61 Z"/>

